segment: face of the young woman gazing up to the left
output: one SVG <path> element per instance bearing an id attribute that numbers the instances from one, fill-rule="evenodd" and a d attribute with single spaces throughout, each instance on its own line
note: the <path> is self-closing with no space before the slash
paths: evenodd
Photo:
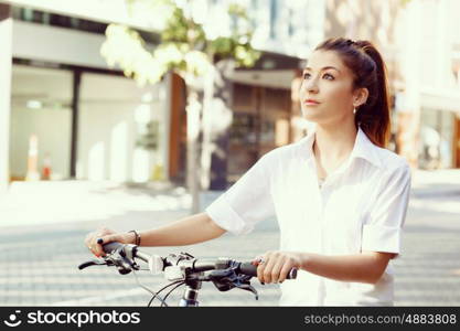
<path id="1" fill-rule="evenodd" d="M 340 124 L 353 117 L 352 87 L 353 74 L 335 52 L 314 51 L 300 86 L 303 117 L 318 124 Z"/>

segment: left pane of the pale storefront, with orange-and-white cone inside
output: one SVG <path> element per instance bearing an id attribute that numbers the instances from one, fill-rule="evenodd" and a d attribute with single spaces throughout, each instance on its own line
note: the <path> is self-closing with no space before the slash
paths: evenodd
<path id="1" fill-rule="evenodd" d="M 12 180 L 23 180 L 28 174 L 31 178 L 68 178 L 72 79 L 69 71 L 13 65 Z"/>

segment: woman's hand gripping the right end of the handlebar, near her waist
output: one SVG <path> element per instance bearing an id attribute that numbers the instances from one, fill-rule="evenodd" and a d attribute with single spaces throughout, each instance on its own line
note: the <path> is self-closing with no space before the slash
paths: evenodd
<path id="1" fill-rule="evenodd" d="M 298 252 L 267 252 L 263 256 L 257 256 L 253 264 L 257 266 L 257 278 L 260 282 L 282 282 L 292 268 L 301 268 L 302 254 Z"/>

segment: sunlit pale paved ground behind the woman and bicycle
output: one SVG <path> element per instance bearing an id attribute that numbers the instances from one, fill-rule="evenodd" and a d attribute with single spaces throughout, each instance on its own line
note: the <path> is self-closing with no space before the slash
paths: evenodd
<path id="1" fill-rule="evenodd" d="M 402 258 L 394 261 L 396 305 L 460 305 L 460 171 L 417 171 L 407 214 Z M 208 192 L 203 205 L 220 192 Z M 190 196 L 181 188 L 119 185 L 103 182 L 15 183 L 0 200 L 0 306 L 143 306 L 149 295 L 132 275 L 76 266 L 89 255 L 87 232 L 99 225 L 119 231 L 154 227 L 188 214 Z M 189 247 L 162 247 L 156 254 L 189 252 L 195 256 L 252 258 L 278 247 L 275 220 L 247 235 L 223 237 Z M 159 276 L 140 275 L 159 289 Z M 277 286 L 255 281 L 249 292 L 218 292 L 204 285 L 203 306 L 276 306 Z M 179 295 L 179 293 L 178 293 Z M 171 303 L 178 302 L 178 295 Z"/>

